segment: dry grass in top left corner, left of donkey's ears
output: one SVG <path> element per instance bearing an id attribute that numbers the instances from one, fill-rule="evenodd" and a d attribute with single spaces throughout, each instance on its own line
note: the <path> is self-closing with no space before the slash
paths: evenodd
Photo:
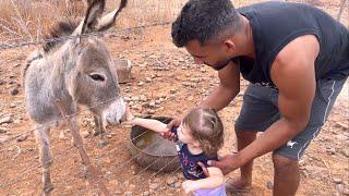
<path id="1" fill-rule="evenodd" d="M 7 40 L 41 38 L 52 23 L 73 19 L 83 9 L 68 11 L 62 0 L 1 0 L 0 36 Z"/>

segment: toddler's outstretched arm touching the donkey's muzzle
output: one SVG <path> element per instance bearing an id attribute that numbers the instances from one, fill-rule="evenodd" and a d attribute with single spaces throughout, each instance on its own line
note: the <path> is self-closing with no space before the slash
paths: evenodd
<path id="1" fill-rule="evenodd" d="M 166 125 L 165 123 L 154 120 L 154 119 L 142 119 L 142 118 L 136 118 L 132 115 L 130 110 L 127 110 L 127 122 L 123 124 L 131 124 L 131 125 L 139 125 L 146 127 L 148 130 L 152 130 L 154 132 L 164 132 L 166 131 Z"/>

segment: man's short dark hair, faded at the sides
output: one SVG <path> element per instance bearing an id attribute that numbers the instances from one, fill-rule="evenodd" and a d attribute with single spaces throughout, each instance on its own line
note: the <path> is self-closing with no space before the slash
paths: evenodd
<path id="1" fill-rule="evenodd" d="M 172 23 L 172 41 L 177 47 L 197 39 L 201 45 L 238 32 L 240 17 L 230 0 L 190 0 Z"/>

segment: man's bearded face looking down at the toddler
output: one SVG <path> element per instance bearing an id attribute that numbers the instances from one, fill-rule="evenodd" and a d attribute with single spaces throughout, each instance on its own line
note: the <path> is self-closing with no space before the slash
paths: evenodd
<path id="1" fill-rule="evenodd" d="M 231 60 L 232 51 L 224 42 L 201 46 L 197 40 L 191 40 L 185 46 L 196 64 L 206 64 L 215 70 L 222 69 Z"/>

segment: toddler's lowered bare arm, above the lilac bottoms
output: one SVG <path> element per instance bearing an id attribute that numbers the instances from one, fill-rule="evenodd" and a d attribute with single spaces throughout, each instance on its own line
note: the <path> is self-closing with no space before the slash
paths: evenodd
<path id="1" fill-rule="evenodd" d="M 186 194 L 196 189 L 216 188 L 224 184 L 225 176 L 219 168 L 209 167 L 207 168 L 207 170 L 209 176 L 207 176 L 206 179 L 201 179 L 196 181 L 188 180 L 183 182 L 182 186 Z"/>

